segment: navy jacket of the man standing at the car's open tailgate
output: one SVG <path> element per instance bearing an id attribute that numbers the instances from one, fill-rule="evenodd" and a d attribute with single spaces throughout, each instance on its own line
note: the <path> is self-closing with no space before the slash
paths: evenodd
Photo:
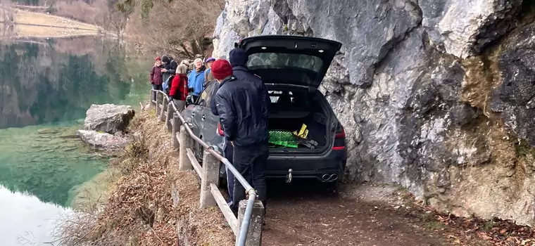
<path id="1" fill-rule="evenodd" d="M 213 112 L 219 115 L 221 127 L 227 141 L 237 146 L 251 146 L 266 143 L 270 138 L 267 129 L 267 91 L 260 78 L 249 74 L 247 77 L 229 77 L 222 81 L 213 98 Z"/>

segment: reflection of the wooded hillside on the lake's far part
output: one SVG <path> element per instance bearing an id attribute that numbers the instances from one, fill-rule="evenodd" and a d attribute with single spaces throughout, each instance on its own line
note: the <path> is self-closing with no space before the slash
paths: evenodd
<path id="1" fill-rule="evenodd" d="M 123 101 L 126 70 L 124 47 L 100 37 L 0 44 L 0 129 L 80 119 L 92 103 Z"/>

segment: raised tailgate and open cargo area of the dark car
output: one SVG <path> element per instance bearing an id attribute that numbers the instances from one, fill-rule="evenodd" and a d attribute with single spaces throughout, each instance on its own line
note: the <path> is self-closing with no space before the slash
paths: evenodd
<path id="1" fill-rule="evenodd" d="M 270 154 L 323 153 L 334 139 L 332 110 L 317 91 L 341 48 L 338 41 L 290 35 L 260 35 L 240 40 L 248 70 L 266 84 L 270 93 Z M 308 143 L 297 143 L 306 125 Z"/>

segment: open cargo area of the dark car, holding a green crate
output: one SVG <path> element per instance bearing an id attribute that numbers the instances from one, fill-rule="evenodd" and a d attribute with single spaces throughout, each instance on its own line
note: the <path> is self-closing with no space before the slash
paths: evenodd
<path id="1" fill-rule="evenodd" d="M 332 136 L 327 134 L 327 113 L 319 93 L 307 89 L 270 89 L 270 153 L 321 153 Z M 297 137 L 301 130 L 306 136 Z"/>

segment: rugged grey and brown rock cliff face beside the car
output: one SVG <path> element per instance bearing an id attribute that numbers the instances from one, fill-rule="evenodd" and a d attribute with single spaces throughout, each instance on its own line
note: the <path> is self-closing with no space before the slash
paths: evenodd
<path id="1" fill-rule="evenodd" d="M 215 56 L 258 34 L 344 46 L 322 84 L 348 181 L 535 225 L 535 15 L 524 0 L 228 0 Z"/>

